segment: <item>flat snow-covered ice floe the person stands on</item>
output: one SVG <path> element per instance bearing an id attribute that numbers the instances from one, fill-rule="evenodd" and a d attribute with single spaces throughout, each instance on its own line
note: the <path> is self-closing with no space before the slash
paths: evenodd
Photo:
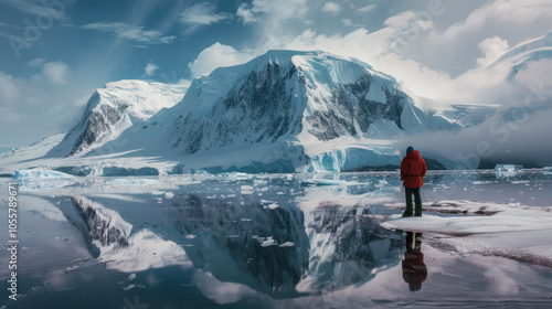
<path id="1" fill-rule="evenodd" d="M 495 254 L 544 265 L 552 265 L 552 248 L 548 237 L 552 232 L 550 209 L 529 207 L 519 204 L 447 201 L 436 205 L 459 207 L 468 213 L 489 210 L 488 215 L 437 216 L 424 213 L 422 217 L 393 215 L 382 223 L 391 230 L 438 233 L 453 236 L 449 245 L 465 253 Z M 438 211 L 438 207 L 432 209 Z M 471 211 L 469 211 L 471 210 Z M 495 213 L 495 214 L 491 214 Z"/>

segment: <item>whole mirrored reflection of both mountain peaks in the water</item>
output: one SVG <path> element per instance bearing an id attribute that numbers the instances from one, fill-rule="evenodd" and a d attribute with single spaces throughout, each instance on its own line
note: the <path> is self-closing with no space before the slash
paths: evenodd
<path id="1" fill-rule="evenodd" d="M 288 201 L 268 207 L 256 196 L 178 194 L 147 216 L 142 230 L 137 227 L 144 226 L 145 215 L 119 213 L 81 196 L 71 199 L 76 212 L 65 209 L 64 214 L 79 227 L 91 254 L 108 259 L 114 268 L 136 271 L 145 269 L 145 260 L 150 267 L 190 260 L 220 283 L 244 285 L 273 298 L 361 286 L 400 264 L 401 234 L 381 227 L 369 207 L 319 202 L 305 212 L 295 200 Z M 146 214 L 147 209 L 134 211 Z M 139 237 L 145 231 L 148 236 Z M 151 239 L 177 247 L 161 253 Z M 156 249 L 145 249 L 149 247 Z"/>

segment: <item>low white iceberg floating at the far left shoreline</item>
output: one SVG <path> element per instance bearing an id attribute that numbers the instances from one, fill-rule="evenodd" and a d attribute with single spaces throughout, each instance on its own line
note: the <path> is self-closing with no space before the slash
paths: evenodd
<path id="1" fill-rule="evenodd" d="M 28 190 L 67 187 L 77 180 L 74 175 L 45 169 L 17 170 L 13 179 Z"/>

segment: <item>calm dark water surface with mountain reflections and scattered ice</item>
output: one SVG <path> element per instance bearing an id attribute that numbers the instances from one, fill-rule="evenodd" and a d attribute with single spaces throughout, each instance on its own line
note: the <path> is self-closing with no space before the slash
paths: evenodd
<path id="1" fill-rule="evenodd" d="M 551 268 L 459 254 L 440 235 L 382 228 L 386 216 L 401 212 L 384 206 L 404 200 L 396 178 L 103 178 L 49 191 L 21 189 L 21 296 L 8 299 L 4 251 L 0 306 L 552 306 Z M 435 172 L 426 179 L 423 199 L 549 207 L 551 192 L 552 175 L 542 171 L 508 179 L 492 172 Z M 0 222 L 0 239 L 7 243 L 6 207 Z"/>

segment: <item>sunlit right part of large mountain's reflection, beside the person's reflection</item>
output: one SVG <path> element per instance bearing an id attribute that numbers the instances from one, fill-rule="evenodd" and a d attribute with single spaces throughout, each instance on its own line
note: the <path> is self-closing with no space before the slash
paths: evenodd
<path id="1" fill-rule="evenodd" d="M 361 206 L 321 202 L 307 214 L 309 268 L 302 286 L 336 290 L 360 286 L 401 260 L 401 235 L 384 230 Z"/>

